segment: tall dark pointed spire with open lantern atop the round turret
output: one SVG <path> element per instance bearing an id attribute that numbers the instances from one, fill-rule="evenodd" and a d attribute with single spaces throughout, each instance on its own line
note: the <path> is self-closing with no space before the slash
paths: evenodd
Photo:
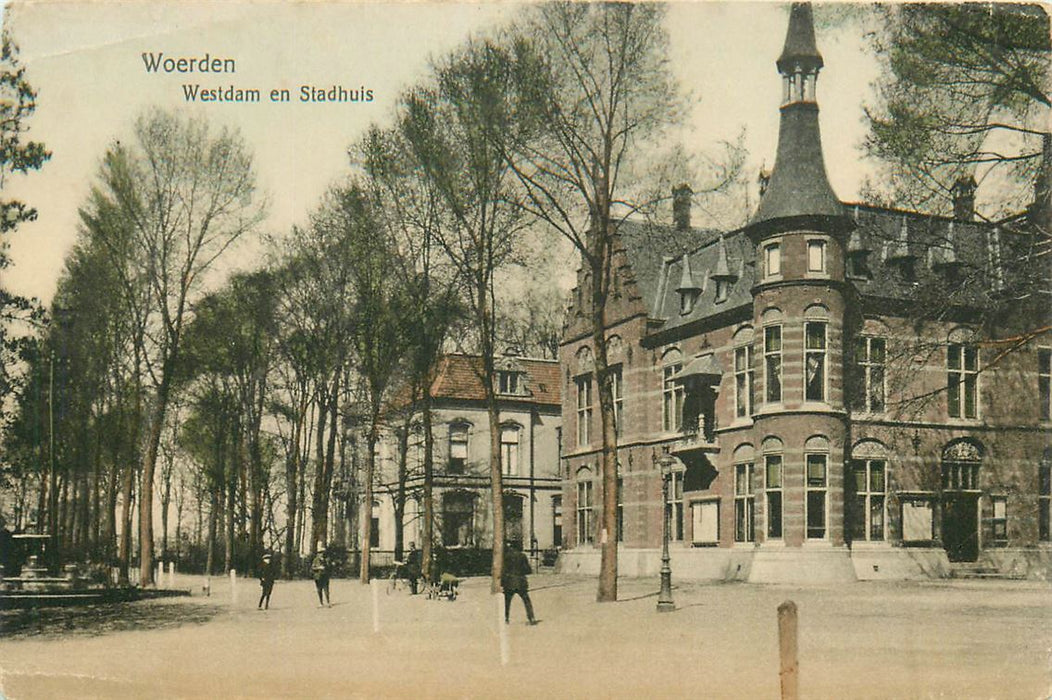
<path id="1" fill-rule="evenodd" d="M 750 225 L 791 217 L 841 217 L 843 206 L 826 176 L 815 84 L 822 56 L 814 46 L 809 3 L 794 3 L 777 61 L 785 94 L 778 152 L 767 191 Z"/>

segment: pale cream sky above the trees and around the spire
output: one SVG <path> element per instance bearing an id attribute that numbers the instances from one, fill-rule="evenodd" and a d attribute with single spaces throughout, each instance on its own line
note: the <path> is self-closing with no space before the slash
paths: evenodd
<path id="1" fill-rule="evenodd" d="M 744 127 L 751 172 L 773 164 L 781 98 L 774 61 L 787 8 L 773 2 L 670 4 L 669 63 L 690 95 L 688 153 L 711 152 Z M 206 115 L 216 125 L 239 128 L 269 203 L 263 229 L 280 235 L 306 222 L 326 188 L 348 172 L 347 147 L 370 123 L 390 122 L 399 94 L 425 77 L 429 58 L 519 9 L 508 2 L 7 4 L 5 26 L 38 93 L 29 138 L 43 141 L 53 156 L 41 171 L 5 182 L 5 196 L 27 202 L 39 216 L 11 237 L 14 265 L 4 271 L 4 285 L 49 302 L 102 155 L 114 140 L 129 138 L 146 107 Z M 820 19 L 821 13 L 818 6 Z M 827 171 L 841 199 L 850 201 L 868 173 L 858 145 L 876 64 L 851 23 L 820 31 L 817 43 L 826 63 L 818 103 Z M 232 59 L 236 72 L 149 72 L 144 53 Z M 195 83 L 259 89 L 261 101 L 190 103 L 183 86 Z M 371 89 L 373 99 L 301 102 L 301 85 Z M 271 102 L 276 88 L 289 89 L 291 101 Z"/>

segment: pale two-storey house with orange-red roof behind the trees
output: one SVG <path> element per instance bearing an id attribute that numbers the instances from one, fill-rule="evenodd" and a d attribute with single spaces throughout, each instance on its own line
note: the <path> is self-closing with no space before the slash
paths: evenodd
<path id="1" fill-rule="evenodd" d="M 442 358 L 431 385 L 434 435 L 434 536 L 447 548 L 492 546 L 489 481 L 489 416 L 477 356 Z M 561 540 L 559 477 L 560 385 L 554 360 L 497 359 L 504 471 L 506 539 L 525 549 L 545 549 Z M 420 543 L 424 440 L 419 415 L 407 440 L 404 543 Z M 399 493 L 398 435 L 380 443 L 380 484 L 372 507 L 372 545 L 394 549 L 394 499 Z M 381 558 L 382 559 L 382 558 Z"/>

